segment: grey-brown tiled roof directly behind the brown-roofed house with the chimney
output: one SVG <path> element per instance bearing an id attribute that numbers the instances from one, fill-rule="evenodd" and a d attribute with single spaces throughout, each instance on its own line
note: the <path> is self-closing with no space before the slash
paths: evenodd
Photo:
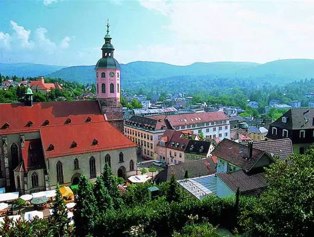
<path id="1" fill-rule="evenodd" d="M 278 156 L 279 160 L 284 160 L 293 153 L 292 142 L 289 138 L 254 142 L 253 148 L 267 152 L 272 157 Z"/>

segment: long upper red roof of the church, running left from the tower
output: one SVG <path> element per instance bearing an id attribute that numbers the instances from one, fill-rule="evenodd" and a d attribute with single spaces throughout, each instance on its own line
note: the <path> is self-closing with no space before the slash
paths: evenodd
<path id="1" fill-rule="evenodd" d="M 83 123 L 87 118 L 91 122 L 105 121 L 97 101 L 41 102 L 32 107 L 0 104 L 0 135 L 39 131 L 41 126 L 65 124 L 67 119 L 71 124 Z"/>

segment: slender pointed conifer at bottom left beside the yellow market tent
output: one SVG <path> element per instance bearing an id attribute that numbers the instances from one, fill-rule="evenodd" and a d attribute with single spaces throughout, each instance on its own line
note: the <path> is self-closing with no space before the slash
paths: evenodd
<path id="1" fill-rule="evenodd" d="M 65 236 L 70 221 L 68 219 L 68 208 L 66 207 L 65 201 L 61 196 L 59 184 L 57 184 L 56 197 L 52 204 L 53 208 L 50 221 L 53 226 L 52 228 L 54 229 L 53 236 Z"/>

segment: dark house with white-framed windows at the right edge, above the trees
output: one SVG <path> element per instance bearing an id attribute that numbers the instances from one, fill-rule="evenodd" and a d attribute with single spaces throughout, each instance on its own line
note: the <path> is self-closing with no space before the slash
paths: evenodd
<path id="1" fill-rule="evenodd" d="M 269 139 L 290 138 L 293 152 L 304 154 L 314 143 L 314 109 L 291 109 L 270 124 Z"/>

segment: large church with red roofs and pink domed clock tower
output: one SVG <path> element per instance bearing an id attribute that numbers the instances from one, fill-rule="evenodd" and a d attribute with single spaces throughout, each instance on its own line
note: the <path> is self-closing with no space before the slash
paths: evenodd
<path id="1" fill-rule="evenodd" d="M 0 104 L 0 187 L 30 194 L 91 181 L 107 162 L 113 174 L 136 173 L 136 144 L 123 135 L 120 66 L 107 25 L 95 67 L 97 100 Z"/>

